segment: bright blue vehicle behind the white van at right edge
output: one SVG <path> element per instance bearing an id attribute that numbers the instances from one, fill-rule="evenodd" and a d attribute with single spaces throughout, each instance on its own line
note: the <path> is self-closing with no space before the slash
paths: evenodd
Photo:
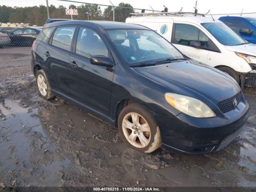
<path id="1" fill-rule="evenodd" d="M 220 17 L 219 20 L 246 41 L 256 44 L 256 18 L 225 16 Z"/>

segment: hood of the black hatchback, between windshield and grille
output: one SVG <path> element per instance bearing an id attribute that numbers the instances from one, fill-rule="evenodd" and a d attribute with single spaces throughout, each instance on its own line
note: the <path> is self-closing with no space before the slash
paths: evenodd
<path id="1" fill-rule="evenodd" d="M 240 91 L 238 84 L 228 74 L 191 60 L 134 69 L 165 86 L 167 92 L 208 100 L 214 104 Z"/>

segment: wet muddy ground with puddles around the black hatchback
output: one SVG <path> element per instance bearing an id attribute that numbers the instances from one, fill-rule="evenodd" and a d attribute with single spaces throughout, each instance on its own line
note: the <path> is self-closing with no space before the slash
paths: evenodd
<path id="1" fill-rule="evenodd" d="M 30 48 L 0 49 L 0 188 L 15 186 L 256 187 L 256 89 L 244 131 L 223 150 L 141 154 L 112 126 L 56 98 L 42 99 Z M 222 188 L 217 188 L 222 190 Z"/>

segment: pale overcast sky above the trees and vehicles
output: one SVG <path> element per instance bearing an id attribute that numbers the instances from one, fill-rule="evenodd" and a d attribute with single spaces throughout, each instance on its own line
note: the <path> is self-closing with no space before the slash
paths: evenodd
<path id="1" fill-rule="evenodd" d="M 49 5 L 53 4 L 58 6 L 63 4 L 68 6 L 70 2 L 63 2 L 59 0 L 48 0 Z M 110 5 L 108 0 L 76 0 L 79 2 L 98 3 Z M 130 3 L 134 8 L 150 9 L 150 6 L 154 10 L 163 10 L 165 5 L 170 12 L 178 11 L 183 7 L 184 12 L 193 12 L 195 6 L 195 0 L 111 0 L 114 5 L 118 5 L 120 2 Z M 0 5 L 6 6 L 35 6 L 40 4 L 46 4 L 46 0 L 0 0 Z M 74 4 L 74 3 L 73 3 Z M 76 4 L 78 5 L 78 4 Z M 256 12 L 256 0 L 198 0 L 198 12 L 206 13 L 208 10 L 212 14 L 219 13 L 240 13 L 243 12 Z M 104 7 L 102 7 L 104 9 Z M 250 15 L 250 16 L 255 16 Z"/>

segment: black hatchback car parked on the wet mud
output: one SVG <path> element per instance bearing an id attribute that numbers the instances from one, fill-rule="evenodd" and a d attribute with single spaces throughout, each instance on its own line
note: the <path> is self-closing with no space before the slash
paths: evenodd
<path id="1" fill-rule="evenodd" d="M 59 96 L 98 116 L 145 153 L 161 145 L 185 154 L 219 150 L 248 118 L 228 74 L 193 62 L 140 25 L 48 23 L 33 43 L 32 70 L 43 98 Z"/>

